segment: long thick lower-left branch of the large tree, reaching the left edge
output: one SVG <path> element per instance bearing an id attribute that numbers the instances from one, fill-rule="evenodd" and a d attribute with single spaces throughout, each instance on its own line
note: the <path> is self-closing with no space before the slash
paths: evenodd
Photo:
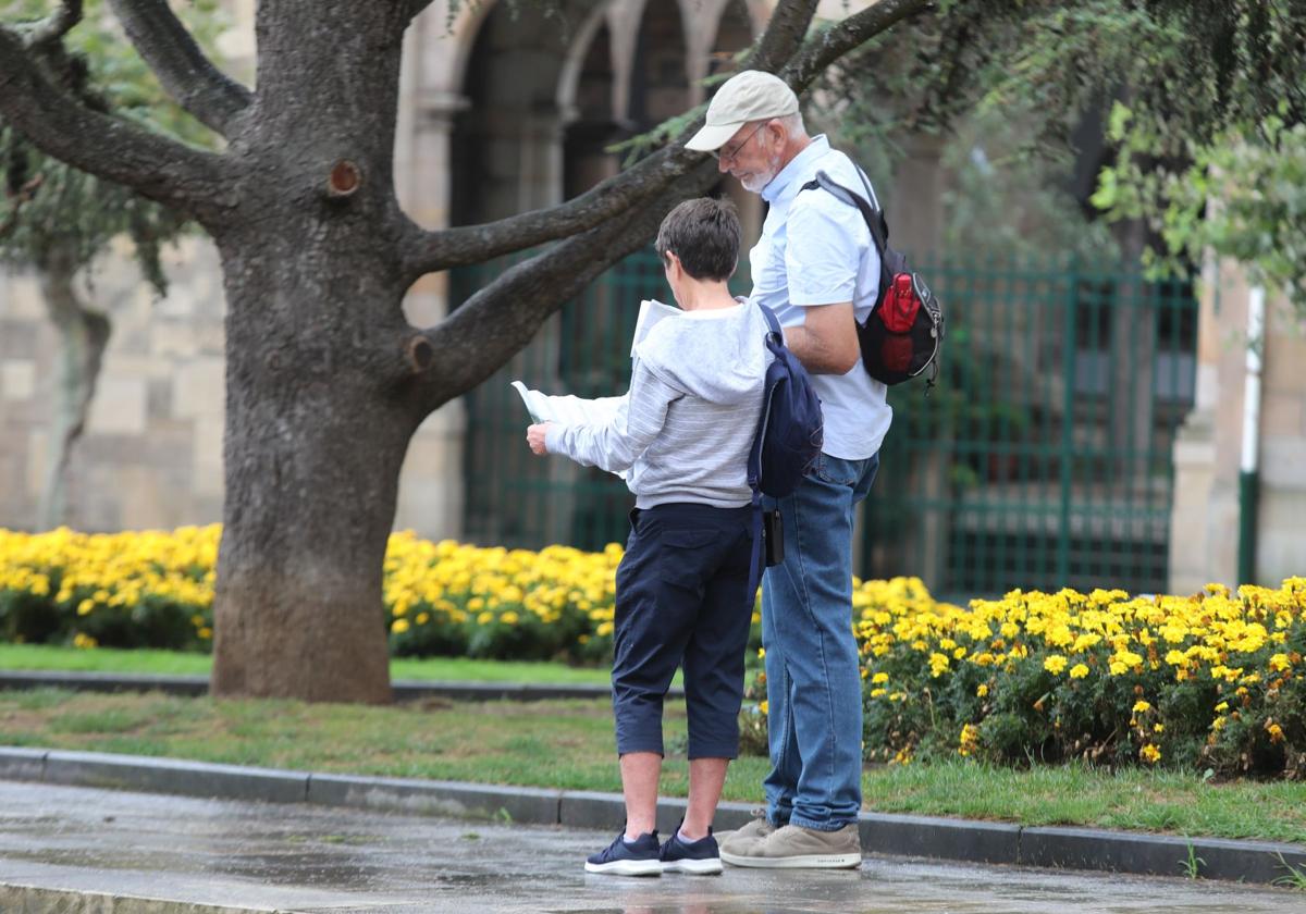
<path id="1" fill-rule="evenodd" d="M 229 167 L 221 155 L 86 108 L 51 85 L 20 38 L 4 27 L 0 118 L 47 155 L 201 221 L 232 204 Z"/>

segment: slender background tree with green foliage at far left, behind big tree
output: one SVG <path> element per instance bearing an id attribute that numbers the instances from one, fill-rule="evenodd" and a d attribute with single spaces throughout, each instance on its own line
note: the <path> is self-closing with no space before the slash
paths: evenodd
<path id="1" fill-rule="evenodd" d="M 42 4 L 22 0 L 10 7 L 35 17 Z M 189 13 L 201 40 L 212 37 L 213 0 L 196 4 Z M 167 99 L 141 59 L 106 27 L 99 0 L 88 3 L 85 14 L 86 26 L 69 35 L 67 44 L 55 40 L 56 21 L 46 21 L 44 30 L 27 29 L 25 43 L 51 78 L 94 111 L 115 111 L 189 142 L 209 141 L 212 134 Z M 44 530 L 65 520 L 69 461 L 90 413 L 112 330 L 110 316 L 82 300 L 74 277 L 112 238 L 125 234 L 145 278 L 163 295 L 167 282 L 159 265 L 161 248 L 188 223 L 123 184 L 98 180 L 42 154 L 3 121 L 0 181 L 7 189 L 0 198 L 0 259 L 35 270 L 60 341 L 50 469 L 37 514 L 37 526 Z"/>

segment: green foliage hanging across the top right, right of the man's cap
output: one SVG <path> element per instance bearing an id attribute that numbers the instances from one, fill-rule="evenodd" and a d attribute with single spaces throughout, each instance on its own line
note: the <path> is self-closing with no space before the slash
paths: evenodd
<path id="1" fill-rule="evenodd" d="M 1211 247 L 1306 313 L 1303 35 L 1306 0 L 952 0 L 870 42 L 825 87 L 872 161 L 892 165 L 904 136 L 960 129 L 949 249 L 1100 247 L 1075 236 L 1085 221 L 1053 179 L 1084 114 L 1110 108 L 1119 161 L 1094 204 L 1147 221 L 1153 272 L 1186 273 Z M 994 167 L 968 165 L 974 149 Z M 1007 218 L 1017 200 L 1030 212 Z M 1036 238 L 1003 230 L 1029 225 Z"/>

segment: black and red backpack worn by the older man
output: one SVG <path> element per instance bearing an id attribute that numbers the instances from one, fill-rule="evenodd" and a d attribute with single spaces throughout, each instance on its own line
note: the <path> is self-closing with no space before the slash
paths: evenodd
<path id="1" fill-rule="evenodd" d="M 858 168 L 861 174 L 861 168 Z M 857 342 L 866 372 L 882 384 L 901 384 L 934 366 L 927 386 L 939 377 L 939 347 L 943 345 L 943 307 L 906 257 L 888 245 L 889 226 L 875 192 L 862 175 L 870 202 L 837 184 L 824 171 L 803 184 L 803 191 L 824 188 L 850 206 L 857 206 L 871 230 L 880 255 L 880 291 L 866 321 L 857 324 Z"/>

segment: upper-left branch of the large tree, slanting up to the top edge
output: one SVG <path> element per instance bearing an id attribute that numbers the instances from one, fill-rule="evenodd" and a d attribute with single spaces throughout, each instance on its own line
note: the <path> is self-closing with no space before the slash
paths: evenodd
<path id="1" fill-rule="evenodd" d="M 110 0 L 110 5 L 163 89 L 197 120 L 230 136 L 252 95 L 213 65 L 167 0 Z"/>

